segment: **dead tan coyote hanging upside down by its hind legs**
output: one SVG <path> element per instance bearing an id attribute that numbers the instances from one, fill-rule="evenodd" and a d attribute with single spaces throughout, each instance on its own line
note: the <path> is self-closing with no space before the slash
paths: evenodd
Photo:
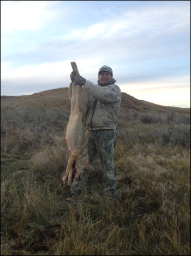
<path id="1" fill-rule="evenodd" d="M 71 62 L 71 67 L 76 75 L 80 75 L 75 62 Z M 72 83 L 71 113 L 65 139 L 69 149 L 69 159 L 67 169 L 62 178 L 61 185 L 68 178 L 68 186 L 71 186 L 73 169 L 76 168 L 76 178 L 81 179 L 83 169 L 93 169 L 88 160 L 88 138 L 86 136 L 86 114 L 88 96 L 83 88 Z M 74 167 L 75 166 L 75 167 Z"/>

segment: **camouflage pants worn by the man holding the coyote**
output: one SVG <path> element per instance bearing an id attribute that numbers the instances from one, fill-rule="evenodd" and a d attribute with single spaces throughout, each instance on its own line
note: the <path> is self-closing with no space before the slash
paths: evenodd
<path id="1" fill-rule="evenodd" d="M 115 176 L 114 176 L 114 147 L 116 143 L 115 130 L 93 130 L 87 131 L 89 163 L 93 166 L 95 157 L 99 156 L 103 166 L 103 185 L 108 196 L 115 197 Z M 71 186 L 71 193 L 79 196 L 85 187 L 89 170 L 83 170 L 81 180 L 75 179 Z"/>

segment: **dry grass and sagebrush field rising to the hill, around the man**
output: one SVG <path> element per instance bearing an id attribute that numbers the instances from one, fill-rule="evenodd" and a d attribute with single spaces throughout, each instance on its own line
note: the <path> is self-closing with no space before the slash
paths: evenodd
<path id="1" fill-rule="evenodd" d="M 1 255 L 190 255 L 190 109 L 123 94 L 117 197 L 97 160 L 68 204 L 67 90 L 1 101 Z"/>

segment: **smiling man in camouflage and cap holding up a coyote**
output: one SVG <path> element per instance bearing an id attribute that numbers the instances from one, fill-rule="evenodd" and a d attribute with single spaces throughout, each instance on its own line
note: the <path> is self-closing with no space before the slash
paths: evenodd
<path id="1" fill-rule="evenodd" d="M 98 84 L 86 81 L 85 78 L 77 76 L 74 71 L 71 72 L 70 78 L 75 84 L 83 86 L 89 96 L 86 118 L 89 163 L 92 164 L 96 155 L 99 155 L 104 170 L 105 194 L 115 198 L 114 147 L 116 143 L 115 129 L 121 103 L 121 89 L 115 84 L 116 80 L 113 78 L 113 71 L 109 66 L 100 67 Z M 69 98 L 71 98 L 71 84 Z M 83 187 L 86 185 L 88 175 L 89 171 L 84 170 L 81 180 L 75 177 L 71 186 L 71 196 L 67 198 L 67 201 L 73 201 L 74 197 L 80 196 Z"/>

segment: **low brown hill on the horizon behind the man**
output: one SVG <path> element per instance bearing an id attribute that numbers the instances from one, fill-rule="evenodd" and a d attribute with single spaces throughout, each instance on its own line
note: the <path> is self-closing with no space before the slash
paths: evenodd
<path id="1" fill-rule="evenodd" d="M 190 109 L 181 107 L 161 106 L 149 103 L 144 100 L 138 100 L 133 96 L 122 93 L 122 110 L 136 110 L 141 112 L 168 112 L 174 110 L 180 113 L 190 113 Z M 34 93 L 32 95 L 23 96 L 1 96 L 2 106 L 26 107 L 31 105 L 45 106 L 46 108 L 64 106 L 65 109 L 70 109 L 70 101 L 68 98 L 68 87 L 45 90 L 44 92 Z"/>

